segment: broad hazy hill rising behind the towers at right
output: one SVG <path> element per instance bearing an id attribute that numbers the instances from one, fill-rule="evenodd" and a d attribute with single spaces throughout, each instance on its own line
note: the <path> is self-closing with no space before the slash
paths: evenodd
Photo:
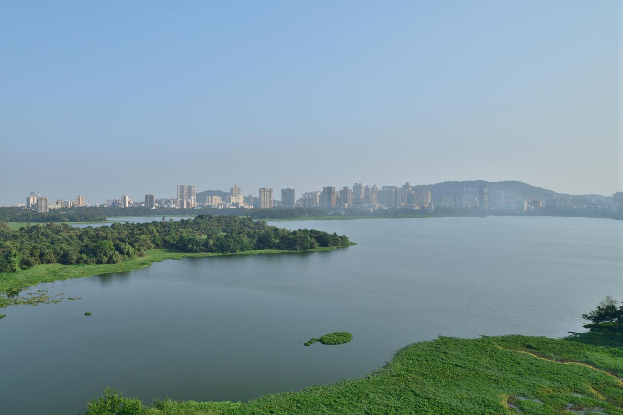
<path id="1" fill-rule="evenodd" d="M 523 181 L 486 181 L 486 180 L 467 180 L 467 181 L 444 181 L 441 183 L 427 184 L 430 189 L 430 196 L 433 201 L 440 201 L 442 196 L 454 193 L 464 193 L 470 196 L 478 196 L 480 186 L 487 186 L 489 191 L 503 190 L 506 199 L 531 199 L 536 196 L 538 199 L 546 199 L 552 190 L 532 186 Z M 602 196 L 601 194 L 566 194 L 557 193 L 558 196 L 565 197 L 586 197 L 589 199 L 612 199 L 612 196 Z"/>

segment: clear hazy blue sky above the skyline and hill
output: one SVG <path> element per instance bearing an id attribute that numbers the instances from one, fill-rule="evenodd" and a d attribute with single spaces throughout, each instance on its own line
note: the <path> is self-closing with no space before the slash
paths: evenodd
<path id="1" fill-rule="evenodd" d="M 617 1 L 4 2 L 0 203 L 623 190 Z"/>

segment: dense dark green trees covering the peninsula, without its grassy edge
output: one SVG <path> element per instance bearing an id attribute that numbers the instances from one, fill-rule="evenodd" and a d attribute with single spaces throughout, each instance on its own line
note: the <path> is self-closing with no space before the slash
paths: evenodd
<path id="1" fill-rule="evenodd" d="M 268 226 L 252 217 L 199 215 L 182 221 L 115 223 L 78 228 L 67 224 L 12 231 L 0 222 L 0 272 L 37 264 L 116 264 L 153 248 L 229 253 L 255 249 L 309 250 L 348 246 L 346 236 L 315 229 Z"/>

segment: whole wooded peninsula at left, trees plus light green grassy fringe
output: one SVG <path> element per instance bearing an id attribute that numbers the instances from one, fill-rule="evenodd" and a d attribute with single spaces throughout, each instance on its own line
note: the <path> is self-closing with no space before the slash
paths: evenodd
<path id="1" fill-rule="evenodd" d="M 0 293 L 185 256 L 333 250 L 352 244 L 346 236 L 315 229 L 288 231 L 239 216 L 199 215 L 95 228 L 50 223 L 19 230 L 0 222 Z M 9 303 L 6 295 L 0 296 L 0 307 Z"/>

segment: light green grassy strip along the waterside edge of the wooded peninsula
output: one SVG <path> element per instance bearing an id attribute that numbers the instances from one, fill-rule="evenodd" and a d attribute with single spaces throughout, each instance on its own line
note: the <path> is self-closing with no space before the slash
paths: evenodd
<path id="1" fill-rule="evenodd" d="M 351 245 L 355 245 L 354 243 Z M 331 251 L 338 247 L 318 247 L 311 251 Z M 144 257 L 128 259 L 117 264 L 98 265 L 62 265 L 40 264 L 32 268 L 18 272 L 0 273 L 0 293 L 10 290 L 30 287 L 40 282 L 53 282 L 70 278 L 90 277 L 92 275 L 110 274 L 111 272 L 125 272 L 149 267 L 153 262 L 161 262 L 166 259 L 183 259 L 186 257 L 214 257 L 221 255 L 257 255 L 257 254 L 283 254 L 290 252 L 310 252 L 278 249 L 247 250 L 231 254 L 214 254 L 212 252 L 179 252 L 171 249 L 151 249 Z M 0 298 L 0 307 L 3 302 Z"/>

